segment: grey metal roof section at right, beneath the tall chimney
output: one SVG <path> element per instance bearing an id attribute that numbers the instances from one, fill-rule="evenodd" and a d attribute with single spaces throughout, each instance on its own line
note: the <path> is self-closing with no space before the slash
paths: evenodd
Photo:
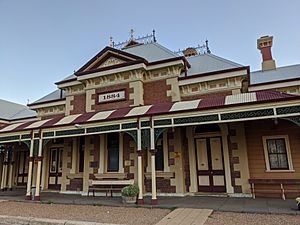
<path id="1" fill-rule="evenodd" d="M 300 79 L 300 64 L 250 73 L 250 85 L 264 85 L 294 79 Z"/>

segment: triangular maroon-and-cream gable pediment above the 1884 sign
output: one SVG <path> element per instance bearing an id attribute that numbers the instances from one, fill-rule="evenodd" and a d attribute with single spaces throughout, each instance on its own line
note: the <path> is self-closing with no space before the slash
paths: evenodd
<path id="1" fill-rule="evenodd" d="M 93 57 L 89 62 L 87 62 L 83 67 L 81 67 L 75 73 L 75 75 L 89 74 L 140 62 L 146 62 L 146 60 L 139 56 L 118 49 L 106 47 L 95 57 Z"/>

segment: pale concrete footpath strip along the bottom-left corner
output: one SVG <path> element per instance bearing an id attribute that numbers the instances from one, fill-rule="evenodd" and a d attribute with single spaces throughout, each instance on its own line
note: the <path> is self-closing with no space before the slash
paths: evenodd
<path id="1" fill-rule="evenodd" d="M 0 225 L 119 225 L 112 223 L 96 223 L 86 221 L 72 221 L 72 220 L 56 220 L 48 218 L 34 218 L 21 216 L 1 216 Z"/>

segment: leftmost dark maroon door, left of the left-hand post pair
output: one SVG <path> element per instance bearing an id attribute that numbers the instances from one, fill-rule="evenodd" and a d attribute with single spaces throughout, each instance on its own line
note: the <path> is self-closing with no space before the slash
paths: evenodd
<path id="1" fill-rule="evenodd" d="M 25 186 L 28 176 L 29 151 L 18 152 L 18 178 L 17 185 Z"/>

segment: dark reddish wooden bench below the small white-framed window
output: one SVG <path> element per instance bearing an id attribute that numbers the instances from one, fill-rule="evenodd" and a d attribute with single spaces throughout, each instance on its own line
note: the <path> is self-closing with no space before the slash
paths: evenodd
<path id="1" fill-rule="evenodd" d="M 300 179 L 249 179 L 251 185 L 252 197 L 255 199 L 256 193 L 280 193 L 281 198 L 285 200 L 286 193 L 300 193 Z M 258 189 L 255 185 L 273 185 L 278 189 Z M 288 185 L 299 185 L 298 189 L 289 189 Z"/>

